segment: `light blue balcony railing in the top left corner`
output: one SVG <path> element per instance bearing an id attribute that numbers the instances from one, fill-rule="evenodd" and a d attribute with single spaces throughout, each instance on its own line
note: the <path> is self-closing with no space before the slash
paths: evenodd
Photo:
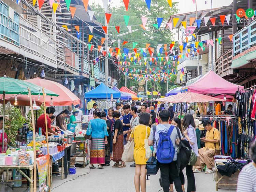
<path id="1" fill-rule="evenodd" d="M 14 11 L 11 18 L 9 6 L 0 1 L 0 38 L 19 45 L 19 15 Z"/>

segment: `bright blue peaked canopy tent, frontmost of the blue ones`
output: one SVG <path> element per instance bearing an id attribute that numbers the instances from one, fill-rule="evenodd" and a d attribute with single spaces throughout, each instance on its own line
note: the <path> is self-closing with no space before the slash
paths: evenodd
<path id="1" fill-rule="evenodd" d="M 95 99 L 106 99 L 106 95 L 108 94 L 108 99 L 110 99 L 111 94 L 113 94 L 113 99 L 118 99 L 121 97 L 121 93 L 118 91 L 115 91 L 107 86 L 105 84 L 101 83 L 98 87 L 96 87 L 93 90 L 90 90 L 86 93 L 84 93 L 84 98 L 95 98 Z"/>

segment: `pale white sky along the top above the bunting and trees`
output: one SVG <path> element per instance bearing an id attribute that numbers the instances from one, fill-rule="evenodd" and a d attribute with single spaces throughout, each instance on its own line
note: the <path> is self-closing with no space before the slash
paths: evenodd
<path id="1" fill-rule="evenodd" d="M 119 1 L 119 0 L 111 0 L 111 2 L 115 2 L 115 1 Z M 131 0 L 131 1 L 134 1 L 134 0 Z M 137 1 L 144 1 L 144 0 L 137 0 Z M 197 10 L 199 11 L 199 10 L 211 9 L 211 1 L 213 3 L 213 8 L 227 6 L 232 3 L 232 0 L 197 0 Z M 102 0 L 89 0 L 89 5 L 92 4 L 93 2 L 103 5 Z M 154 2 L 154 0 L 152 0 L 152 2 Z M 177 14 L 196 11 L 196 6 L 192 0 L 172 0 L 172 2 L 179 2 L 177 8 L 180 11 Z"/>

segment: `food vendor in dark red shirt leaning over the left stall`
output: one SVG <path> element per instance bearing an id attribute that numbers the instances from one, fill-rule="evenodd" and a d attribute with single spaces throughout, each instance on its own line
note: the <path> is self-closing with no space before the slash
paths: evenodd
<path id="1" fill-rule="evenodd" d="M 47 107 L 46 108 L 46 119 L 47 119 L 47 129 L 48 129 L 48 136 L 50 135 L 58 135 L 57 132 L 53 131 L 51 128 L 51 117 L 55 113 L 55 108 L 54 107 Z M 37 132 L 39 128 L 42 128 L 42 135 L 45 135 L 46 132 L 46 127 L 45 127 L 45 117 L 44 114 L 42 114 L 38 119 L 37 119 Z"/>

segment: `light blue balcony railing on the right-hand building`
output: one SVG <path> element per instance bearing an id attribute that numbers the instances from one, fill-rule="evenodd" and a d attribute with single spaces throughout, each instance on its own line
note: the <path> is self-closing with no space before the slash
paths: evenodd
<path id="1" fill-rule="evenodd" d="M 256 21 L 234 34 L 233 55 L 236 56 L 253 46 L 256 46 Z"/>

